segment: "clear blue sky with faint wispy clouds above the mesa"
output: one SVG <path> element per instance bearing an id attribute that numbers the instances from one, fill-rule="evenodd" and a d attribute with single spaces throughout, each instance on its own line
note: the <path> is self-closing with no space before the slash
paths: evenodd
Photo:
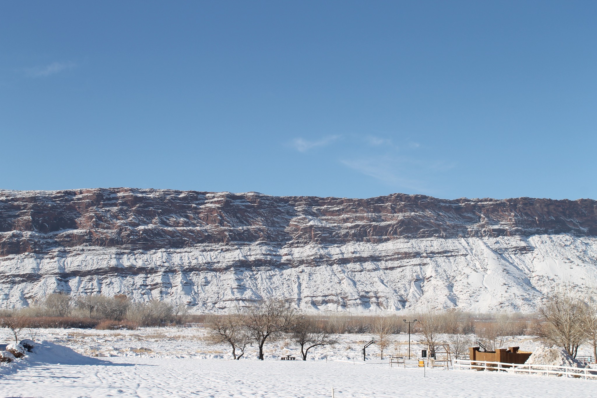
<path id="1" fill-rule="evenodd" d="M 595 1 L 2 1 L 0 187 L 597 198 Z"/>

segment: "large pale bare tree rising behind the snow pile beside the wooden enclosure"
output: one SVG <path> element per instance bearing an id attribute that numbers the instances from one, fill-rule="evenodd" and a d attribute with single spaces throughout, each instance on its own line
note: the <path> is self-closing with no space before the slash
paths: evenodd
<path id="1" fill-rule="evenodd" d="M 546 321 L 544 334 L 549 344 L 564 348 L 573 357 L 578 347 L 586 340 L 583 331 L 586 304 L 564 286 L 546 297 L 545 304 L 539 308 L 540 316 Z"/>

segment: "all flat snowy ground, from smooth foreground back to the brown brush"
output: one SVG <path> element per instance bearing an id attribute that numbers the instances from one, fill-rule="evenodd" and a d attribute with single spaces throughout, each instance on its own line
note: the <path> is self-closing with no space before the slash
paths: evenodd
<path id="1" fill-rule="evenodd" d="M 4 331 L 6 332 L 6 331 Z M 333 347 L 314 348 L 307 362 L 290 341 L 267 344 L 266 360 L 248 347 L 244 360 L 226 346 L 203 340 L 201 328 L 136 331 L 37 329 L 42 341 L 25 359 L 0 365 L 1 397 L 588 397 L 597 381 L 497 372 L 408 368 L 378 360 L 375 345 L 361 360 L 371 335 L 338 335 Z M 5 333 L 5 340 L 8 334 Z M 23 338 L 30 337 L 23 335 Z M 413 335 L 413 341 L 419 340 Z M 406 353 L 408 335 L 396 335 L 389 353 Z M 511 341 L 532 350 L 532 337 Z M 421 346 L 413 344 L 413 354 Z M 588 348 L 588 347 L 587 347 Z M 82 355 L 85 354 L 85 355 Z M 91 356 L 99 357 L 91 357 Z"/>

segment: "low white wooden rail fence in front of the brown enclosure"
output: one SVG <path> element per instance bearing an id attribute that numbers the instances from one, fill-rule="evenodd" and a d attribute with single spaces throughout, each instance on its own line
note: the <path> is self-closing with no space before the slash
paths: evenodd
<path id="1" fill-rule="evenodd" d="M 547 374 L 548 376 L 562 375 L 565 377 L 580 377 L 584 378 L 584 380 L 597 380 L 597 369 L 573 368 L 572 366 L 526 365 L 519 363 L 491 362 L 486 360 L 455 359 L 454 369 L 484 369 L 522 374 Z"/>

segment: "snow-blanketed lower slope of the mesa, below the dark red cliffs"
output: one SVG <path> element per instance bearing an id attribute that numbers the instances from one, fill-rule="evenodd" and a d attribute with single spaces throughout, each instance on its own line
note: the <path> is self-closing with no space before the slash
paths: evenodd
<path id="1" fill-rule="evenodd" d="M 0 307 L 65 291 L 159 298 L 198 312 L 268 296 L 311 311 L 527 312 L 556 283 L 597 286 L 595 258 L 596 237 L 567 234 L 150 251 L 80 246 L 0 258 Z"/>

